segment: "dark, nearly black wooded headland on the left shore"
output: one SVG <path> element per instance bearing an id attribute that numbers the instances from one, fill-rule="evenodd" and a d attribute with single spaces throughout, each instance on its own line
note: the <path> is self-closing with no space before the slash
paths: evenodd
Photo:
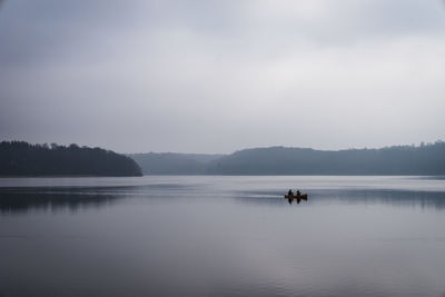
<path id="1" fill-rule="evenodd" d="M 101 148 L 0 142 L 0 176 L 140 176 L 126 156 Z"/>

